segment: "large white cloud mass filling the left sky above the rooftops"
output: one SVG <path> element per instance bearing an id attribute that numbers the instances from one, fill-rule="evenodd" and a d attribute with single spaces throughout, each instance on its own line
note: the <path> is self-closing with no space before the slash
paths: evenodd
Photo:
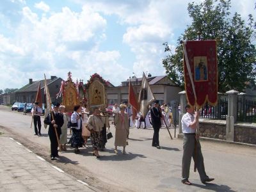
<path id="1" fill-rule="evenodd" d="M 105 79 L 115 77 L 111 83 L 118 84 L 120 74 L 113 74 L 113 68 L 127 72 L 118 63 L 120 52 L 99 51 L 107 22 L 88 6 L 81 12 L 64 7 L 42 17 L 28 6 L 16 11 L 22 17 L 12 28 L 12 38 L 0 33 L 0 71 L 6 79 L 1 89 L 20 88 L 28 78 L 43 79 L 44 73 L 66 79 L 68 71 L 84 80 L 98 72 Z"/>

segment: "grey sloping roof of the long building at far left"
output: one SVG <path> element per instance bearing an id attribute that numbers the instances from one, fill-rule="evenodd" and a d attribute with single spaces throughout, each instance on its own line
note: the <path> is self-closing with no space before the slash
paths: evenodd
<path id="1" fill-rule="evenodd" d="M 58 79 L 61 79 L 60 77 L 56 77 L 54 79 L 46 79 L 47 85 L 53 83 L 54 81 L 57 81 Z M 26 84 L 19 90 L 17 90 L 15 93 L 19 92 L 37 92 L 38 86 L 40 83 L 41 90 L 44 88 L 44 80 L 39 80 L 39 81 L 33 81 L 32 84 Z"/>

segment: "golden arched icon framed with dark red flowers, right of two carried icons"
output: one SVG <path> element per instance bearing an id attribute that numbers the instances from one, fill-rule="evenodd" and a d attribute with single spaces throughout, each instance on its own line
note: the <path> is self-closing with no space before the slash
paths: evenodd
<path id="1" fill-rule="evenodd" d="M 87 90 L 88 108 L 90 110 L 96 107 L 107 108 L 106 86 L 108 86 L 108 81 L 102 79 L 99 74 L 93 74 L 85 86 Z"/>

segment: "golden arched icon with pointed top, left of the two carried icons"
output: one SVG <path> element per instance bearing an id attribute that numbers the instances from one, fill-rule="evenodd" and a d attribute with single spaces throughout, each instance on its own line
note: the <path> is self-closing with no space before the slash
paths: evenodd
<path id="1" fill-rule="evenodd" d="M 65 81 L 62 92 L 62 103 L 66 112 L 73 112 L 74 106 L 79 105 L 76 84 L 72 81 L 71 72 L 68 72 L 68 79 Z"/>

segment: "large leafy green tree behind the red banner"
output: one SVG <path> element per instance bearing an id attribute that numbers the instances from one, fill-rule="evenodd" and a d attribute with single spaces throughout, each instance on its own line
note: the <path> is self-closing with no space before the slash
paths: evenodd
<path id="1" fill-rule="evenodd" d="M 170 53 L 163 65 L 174 83 L 184 86 L 182 41 L 198 40 L 199 36 L 200 40 L 217 40 L 219 92 L 242 92 L 248 82 L 255 84 L 256 49 L 252 42 L 256 23 L 252 15 L 248 15 L 247 23 L 238 13 L 230 17 L 229 9 L 230 0 L 188 4 L 191 25 L 179 36 L 174 51 L 167 42 L 163 44 L 165 52 Z"/>

